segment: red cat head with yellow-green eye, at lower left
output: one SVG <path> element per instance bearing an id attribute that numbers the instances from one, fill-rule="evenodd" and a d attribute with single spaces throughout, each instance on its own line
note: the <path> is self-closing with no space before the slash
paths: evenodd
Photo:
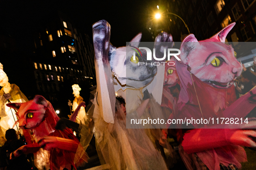
<path id="1" fill-rule="evenodd" d="M 45 120 L 45 112 L 48 101 L 37 95 L 26 103 L 10 103 L 8 107 L 18 110 L 16 113 L 20 129 L 35 129 Z"/>

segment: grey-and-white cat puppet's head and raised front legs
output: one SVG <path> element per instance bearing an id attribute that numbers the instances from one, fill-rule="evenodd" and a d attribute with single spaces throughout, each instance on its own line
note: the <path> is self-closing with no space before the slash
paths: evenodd
<path id="1" fill-rule="evenodd" d="M 93 25 L 93 37 L 97 75 L 97 104 L 100 106 L 100 114 L 104 120 L 113 123 L 115 91 L 119 89 L 124 91 L 127 87 L 137 89 L 145 87 L 156 76 L 157 67 L 138 64 L 139 62 L 146 63 L 146 50 L 143 49 L 140 50 L 142 55 L 136 55 L 136 60 L 133 60 L 133 49 L 139 47 L 141 33 L 136 35 L 128 46 L 117 48 L 110 43 L 109 23 L 101 20 Z M 172 35 L 162 33 L 156 38 L 158 43 L 156 56 L 163 55 L 158 51 L 161 49 L 161 41 L 172 42 Z M 163 77 L 164 71 L 162 79 Z M 159 82 L 162 83 L 163 80 Z M 112 115 L 108 113 L 112 113 Z"/>

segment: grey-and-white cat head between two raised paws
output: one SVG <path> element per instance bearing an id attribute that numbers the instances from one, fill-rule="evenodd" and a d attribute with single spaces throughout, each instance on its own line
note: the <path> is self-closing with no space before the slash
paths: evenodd
<path id="1" fill-rule="evenodd" d="M 122 85 L 130 85 L 134 88 L 141 88 L 147 85 L 154 78 L 157 68 L 154 65 L 139 65 L 139 62 L 146 63 L 146 50 L 141 49 L 141 54 L 136 54 L 133 60 L 133 49 L 139 47 L 142 34 L 139 33 L 126 47 L 113 47 L 110 45 L 109 56 L 111 71 L 115 74 Z"/>

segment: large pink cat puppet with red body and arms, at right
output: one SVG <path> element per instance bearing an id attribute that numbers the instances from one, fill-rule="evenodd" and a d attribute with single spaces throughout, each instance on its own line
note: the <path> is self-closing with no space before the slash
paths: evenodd
<path id="1" fill-rule="evenodd" d="M 175 63 L 181 82 L 175 107 L 176 119 L 244 118 L 256 106 L 252 99 L 256 88 L 236 101 L 233 79 L 240 76 L 243 68 L 234 57 L 231 45 L 224 44 L 234 25 L 228 25 L 204 41 L 198 41 L 191 34 L 182 42 L 181 61 Z M 193 123 L 185 128 L 212 125 Z M 246 161 L 246 153 L 240 145 L 256 147 L 251 138 L 256 137 L 254 130 L 193 129 L 183 135 L 180 154 L 189 170 L 241 168 L 240 162 Z"/>

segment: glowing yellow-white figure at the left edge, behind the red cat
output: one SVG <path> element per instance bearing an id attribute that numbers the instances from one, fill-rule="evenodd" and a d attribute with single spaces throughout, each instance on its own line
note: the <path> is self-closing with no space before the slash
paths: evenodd
<path id="1" fill-rule="evenodd" d="M 15 125 L 17 117 L 15 110 L 7 107 L 6 104 L 10 102 L 26 102 L 28 99 L 20 91 L 19 87 L 15 84 L 10 84 L 6 73 L 3 71 L 3 65 L 0 63 L 0 145 L 3 145 L 4 134 L 9 128 L 14 128 L 18 131 L 19 123 Z M 9 100 L 9 101 L 8 101 Z"/>

